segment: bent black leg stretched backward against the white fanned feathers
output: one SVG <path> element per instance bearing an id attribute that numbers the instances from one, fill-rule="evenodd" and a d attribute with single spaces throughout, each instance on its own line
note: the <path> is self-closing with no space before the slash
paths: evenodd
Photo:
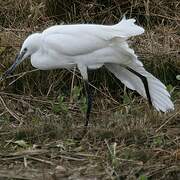
<path id="1" fill-rule="evenodd" d="M 144 84 L 144 88 L 145 88 L 145 92 L 146 92 L 146 96 L 147 96 L 148 102 L 152 106 L 152 100 L 151 100 L 151 95 L 150 95 L 150 92 L 149 92 L 149 85 L 148 85 L 147 78 L 145 76 L 143 76 L 142 74 L 134 71 L 130 67 L 126 67 L 126 69 L 128 69 L 130 72 L 132 72 L 133 74 L 135 74 L 136 76 L 138 76 L 141 79 L 141 81 Z"/>

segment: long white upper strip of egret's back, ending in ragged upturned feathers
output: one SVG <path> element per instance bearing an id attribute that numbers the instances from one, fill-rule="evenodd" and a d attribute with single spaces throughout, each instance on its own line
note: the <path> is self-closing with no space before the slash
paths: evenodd
<path id="1" fill-rule="evenodd" d="M 112 38 L 129 38 L 144 33 L 144 29 L 135 23 L 135 19 L 123 18 L 115 25 L 99 25 L 99 24 L 74 24 L 74 25 L 56 25 L 43 31 L 44 34 L 71 34 L 83 35 L 88 34 L 99 37 L 104 40 Z"/>

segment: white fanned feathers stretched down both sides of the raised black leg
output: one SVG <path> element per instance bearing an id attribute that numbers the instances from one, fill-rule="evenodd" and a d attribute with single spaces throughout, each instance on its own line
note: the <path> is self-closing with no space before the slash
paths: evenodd
<path id="1" fill-rule="evenodd" d="M 140 95 L 147 99 L 144 84 L 138 76 L 121 65 L 106 64 L 105 66 L 128 88 L 136 90 Z M 131 63 L 128 66 L 147 78 L 152 105 L 158 111 L 167 112 L 174 109 L 174 104 L 170 99 L 170 94 L 160 80 L 147 72 L 143 66 L 139 66 L 135 63 Z"/>

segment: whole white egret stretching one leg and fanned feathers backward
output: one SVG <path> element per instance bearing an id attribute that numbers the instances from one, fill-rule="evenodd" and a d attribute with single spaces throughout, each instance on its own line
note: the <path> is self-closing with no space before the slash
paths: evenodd
<path id="1" fill-rule="evenodd" d="M 78 67 L 87 92 L 85 126 L 88 125 L 92 96 L 88 70 L 105 66 L 128 88 L 136 90 L 157 111 L 174 109 L 165 85 L 147 72 L 127 39 L 140 35 L 144 29 L 135 19 L 123 18 L 115 25 L 74 24 L 55 25 L 42 33 L 34 33 L 24 41 L 14 64 L 3 74 L 8 76 L 24 59 L 40 70 Z"/>

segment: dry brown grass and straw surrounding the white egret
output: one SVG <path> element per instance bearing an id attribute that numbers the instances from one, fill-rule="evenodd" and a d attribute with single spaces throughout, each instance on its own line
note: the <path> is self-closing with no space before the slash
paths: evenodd
<path id="1" fill-rule="evenodd" d="M 90 72 L 95 102 L 82 137 L 85 93 L 79 74 L 73 80 L 66 70 L 34 71 L 27 61 L 1 82 L 0 179 L 180 179 L 177 0 L 0 4 L 0 73 L 32 31 L 62 22 L 113 24 L 126 13 L 146 29 L 132 46 L 168 85 L 176 106 L 157 113 L 103 69 Z"/>

